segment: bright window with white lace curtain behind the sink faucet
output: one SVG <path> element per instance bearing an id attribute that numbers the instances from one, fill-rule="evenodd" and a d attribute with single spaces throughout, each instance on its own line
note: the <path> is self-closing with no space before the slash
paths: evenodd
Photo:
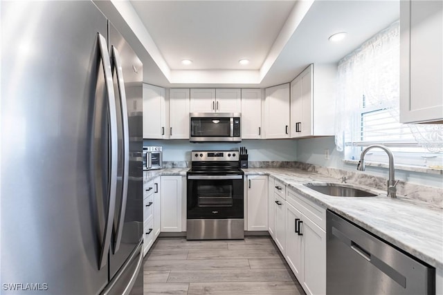
<path id="1" fill-rule="evenodd" d="M 384 144 L 397 164 L 442 166 L 443 125 L 399 123 L 399 22 L 379 32 L 338 63 L 336 146 L 346 160 L 365 146 Z M 369 162 L 388 162 L 374 149 Z"/>

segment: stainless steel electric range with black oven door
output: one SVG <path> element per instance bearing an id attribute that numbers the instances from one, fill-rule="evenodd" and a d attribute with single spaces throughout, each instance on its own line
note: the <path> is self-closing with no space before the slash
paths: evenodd
<path id="1" fill-rule="evenodd" d="M 186 238 L 244 238 L 244 172 L 239 169 L 239 152 L 192 151 L 191 158 Z"/>

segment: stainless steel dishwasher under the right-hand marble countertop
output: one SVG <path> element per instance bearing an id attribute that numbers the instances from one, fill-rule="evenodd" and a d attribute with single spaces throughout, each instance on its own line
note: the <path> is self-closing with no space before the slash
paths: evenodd
<path id="1" fill-rule="evenodd" d="M 326 293 L 435 294 L 435 268 L 327 211 Z"/>

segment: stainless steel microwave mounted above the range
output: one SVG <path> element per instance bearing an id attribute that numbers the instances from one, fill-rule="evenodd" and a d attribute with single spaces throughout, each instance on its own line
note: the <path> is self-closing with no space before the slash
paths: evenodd
<path id="1" fill-rule="evenodd" d="M 241 142 L 240 113 L 190 113 L 190 142 Z"/>

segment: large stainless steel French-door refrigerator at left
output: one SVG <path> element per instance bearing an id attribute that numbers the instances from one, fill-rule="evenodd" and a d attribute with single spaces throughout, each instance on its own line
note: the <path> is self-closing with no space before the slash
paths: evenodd
<path id="1" fill-rule="evenodd" d="M 91 1 L 1 1 L 1 294 L 143 294 L 142 64 Z"/>

